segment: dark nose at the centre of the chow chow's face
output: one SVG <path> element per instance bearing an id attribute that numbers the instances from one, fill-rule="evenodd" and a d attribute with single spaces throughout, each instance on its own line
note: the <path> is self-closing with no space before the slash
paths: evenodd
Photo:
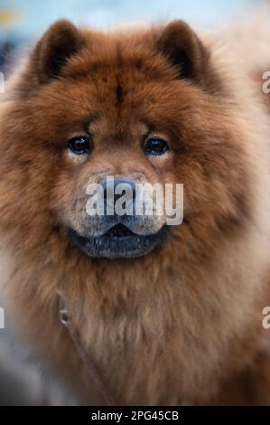
<path id="1" fill-rule="evenodd" d="M 109 199 L 110 203 L 115 204 L 123 195 L 126 195 L 127 201 L 135 200 L 135 181 L 130 178 L 108 178 L 102 180 L 100 184 L 104 190 L 104 201 Z"/>

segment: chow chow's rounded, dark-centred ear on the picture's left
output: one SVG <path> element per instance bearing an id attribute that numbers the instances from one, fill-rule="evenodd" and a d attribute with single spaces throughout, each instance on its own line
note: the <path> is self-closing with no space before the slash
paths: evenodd
<path id="1" fill-rule="evenodd" d="M 70 21 L 60 20 L 52 24 L 36 44 L 29 64 L 38 82 L 42 84 L 57 78 L 83 43 L 83 34 Z"/>

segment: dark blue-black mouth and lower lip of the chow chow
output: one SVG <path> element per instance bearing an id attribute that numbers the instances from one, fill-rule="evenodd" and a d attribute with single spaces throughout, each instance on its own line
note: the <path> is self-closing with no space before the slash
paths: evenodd
<path id="1" fill-rule="evenodd" d="M 124 224 L 116 224 L 101 236 L 81 236 L 70 229 L 70 238 L 90 257 L 130 259 L 142 257 L 162 241 L 165 227 L 150 235 L 140 235 Z"/>

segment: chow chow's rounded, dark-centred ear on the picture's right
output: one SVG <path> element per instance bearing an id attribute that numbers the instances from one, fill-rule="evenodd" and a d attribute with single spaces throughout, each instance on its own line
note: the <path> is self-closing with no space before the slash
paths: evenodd
<path id="1" fill-rule="evenodd" d="M 188 24 L 173 21 L 158 37 L 158 49 L 178 70 L 179 78 L 200 83 L 207 71 L 209 52 Z"/>

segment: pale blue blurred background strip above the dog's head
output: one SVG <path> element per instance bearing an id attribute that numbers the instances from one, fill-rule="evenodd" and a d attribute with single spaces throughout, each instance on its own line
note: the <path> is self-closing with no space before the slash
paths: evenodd
<path id="1" fill-rule="evenodd" d="M 0 71 L 57 18 L 106 28 L 122 22 L 182 18 L 213 25 L 236 20 L 263 0 L 0 0 Z"/>

